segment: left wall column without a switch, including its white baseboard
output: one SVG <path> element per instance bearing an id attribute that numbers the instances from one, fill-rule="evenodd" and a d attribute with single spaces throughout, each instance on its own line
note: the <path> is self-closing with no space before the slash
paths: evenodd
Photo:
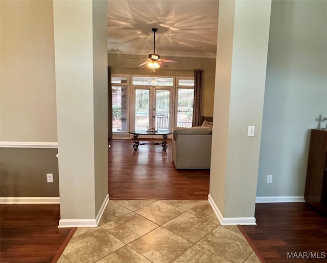
<path id="1" fill-rule="evenodd" d="M 60 221 L 95 226 L 108 199 L 107 2 L 54 1 Z"/>

